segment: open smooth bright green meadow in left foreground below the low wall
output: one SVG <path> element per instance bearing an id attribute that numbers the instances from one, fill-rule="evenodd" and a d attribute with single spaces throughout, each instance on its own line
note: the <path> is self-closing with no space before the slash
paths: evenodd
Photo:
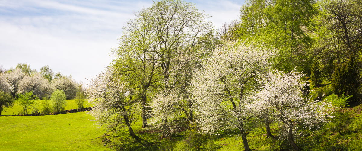
<path id="1" fill-rule="evenodd" d="M 0 150 L 109 150 L 86 112 L 0 117 Z"/>

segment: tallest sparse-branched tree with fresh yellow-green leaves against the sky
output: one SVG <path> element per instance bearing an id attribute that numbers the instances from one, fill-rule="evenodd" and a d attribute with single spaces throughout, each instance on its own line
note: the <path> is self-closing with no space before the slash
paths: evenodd
<path id="1" fill-rule="evenodd" d="M 150 8 L 136 13 L 125 27 L 115 50 L 120 73 L 128 72 L 129 82 L 142 102 L 143 127 L 147 126 L 147 92 L 172 89 L 169 84 L 174 68 L 173 58 L 182 52 L 198 51 L 204 35 L 212 29 L 211 22 L 192 3 L 181 0 L 156 1 Z M 199 48 L 199 47 L 198 47 Z M 123 71 L 122 71 L 123 70 Z"/>

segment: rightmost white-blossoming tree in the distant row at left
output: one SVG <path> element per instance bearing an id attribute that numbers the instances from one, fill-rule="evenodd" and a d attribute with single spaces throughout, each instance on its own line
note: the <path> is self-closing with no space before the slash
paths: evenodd
<path id="1" fill-rule="evenodd" d="M 54 79 L 51 81 L 51 86 L 64 91 L 67 99 L 73 99 L 78 91 L 78 85 L 71 76 L 62 76 L 58 79 Z"/>

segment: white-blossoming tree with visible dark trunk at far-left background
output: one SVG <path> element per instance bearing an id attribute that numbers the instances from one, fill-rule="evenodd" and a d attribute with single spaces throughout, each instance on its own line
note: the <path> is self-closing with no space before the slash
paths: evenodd
<path id="1" fill-rule="evenodd" d="M 15 69 L 14 71 L 1 74 L 10 83 L 10 93 L 15 97 L 19 89 L 19 83 L 24 78 L 25 74 L 21 72 L 21 69 Z"/>

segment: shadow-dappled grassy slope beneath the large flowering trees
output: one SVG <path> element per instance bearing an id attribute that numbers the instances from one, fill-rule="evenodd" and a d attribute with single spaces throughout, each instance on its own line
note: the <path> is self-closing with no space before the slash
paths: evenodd
<path id="1" fill-rule="evenodd" d="M 362 150 L 362 105 L 353 108 L 343 108 L 336 111 L 330 123 L 314 132 L 307 131 L 300 134 L 295 142 L 305 151 L 324 151 L 324 150 Z M 139 120 L 133 126 L 137 136 L 143 139 L 143 144 L 137 142 L 128 135 L 127 129 L 120 129 L 109 133 L 111 142 L 108 147 L 121 150 L 177 150 L 190 151 L 196 150 L 196 147 L 190 144 L 200 143 L 201 150 L 243 150 L 243 142 L 238 130 L 223 131 L 219 135 L 208 137 L 207 135 L 193 134 L 192 131 L 181 132 L 177 136 L 165 137 L 162 133 L 141 128 L 142 122 Z M 278 126 L 272 125 L 271 132 L 277 136 Z M 254 125 L 249 129 L 248 142 L 254 151 L 269 150 L 292 150 L 287 140 L 278 138 L 266 138 L 265 126 Z M 205 141 L 203 141 L 205 139 Z M 146 145 L 146 143 L 150 145 Z"/>

